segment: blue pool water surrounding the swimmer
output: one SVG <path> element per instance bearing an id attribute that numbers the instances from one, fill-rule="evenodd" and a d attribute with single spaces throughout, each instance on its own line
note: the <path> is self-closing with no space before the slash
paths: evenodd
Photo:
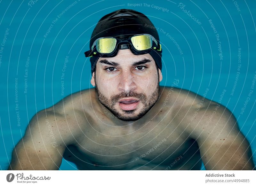
<path id="1" fill-rule="evenodd" d="M 255 1 L 0 1 L 0 169 L 36 112 L 91 87 L 83 52 L 98 20 L 123 8 L 158 28 L 161 86 L 179 79 L 179 88 L 200 95 L 208 88 L 206 98 L 216 102 L 226 90 L 221 104 L 235 115 L 256 162 Z M 76 166 L 63 159 L 60 169 Z"/>

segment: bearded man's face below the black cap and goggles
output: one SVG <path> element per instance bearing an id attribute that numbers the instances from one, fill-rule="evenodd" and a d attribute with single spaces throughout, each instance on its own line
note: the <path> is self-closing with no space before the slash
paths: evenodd
<path id="1" fill-rule="evenodd" d="M 163 77 L 149 54 L 119 50 L 113 58 L 99 58 L 96 69 L 91 84 L 96 86 L 100 103 L 116 118 L 139 120 L 156 103 Z"/>

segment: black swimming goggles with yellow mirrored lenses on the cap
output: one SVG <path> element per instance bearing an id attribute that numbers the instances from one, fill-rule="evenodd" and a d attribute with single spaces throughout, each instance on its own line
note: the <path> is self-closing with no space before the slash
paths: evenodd
<path id="1" fill-rule="evenodd" d="M 149 34 L 132 35 L 128 38 L 100 37 L 96 39 L 91 50 L 84 52 L 85 57 L 100 55 L 100 57 L 114 57 L 119 49 L 130 49 L 133 54 L 147 54 L 151 50 L 162 51 L 161 44 Z"/>

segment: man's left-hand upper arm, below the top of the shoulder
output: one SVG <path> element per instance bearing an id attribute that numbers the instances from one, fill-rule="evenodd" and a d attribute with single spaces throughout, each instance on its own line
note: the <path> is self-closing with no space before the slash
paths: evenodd
<path id="1" fill-rule="evenodd" d="M 59 118 L 59 121 L 56 120 Z M 58 170 L 69 143 L 65 122 L 58 113 L 40 111 L 30 121 L 24 137 L 12 152 L 12 170 Z"/>

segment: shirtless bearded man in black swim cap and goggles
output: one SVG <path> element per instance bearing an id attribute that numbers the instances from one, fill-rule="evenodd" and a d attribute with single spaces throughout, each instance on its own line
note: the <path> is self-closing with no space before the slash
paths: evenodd
<path id="1" fill-rule="evenodd" d="M 162 49 L 144 14 L 123 9 L 104 16 L 90 49 L 95 89 L 38 112 L 9 169 L 58 170 L 62 157 L 79 170 L 198 170 L 202 161 L 208 170 L 254 169 L 227 108 L 159 86 Z"/>

